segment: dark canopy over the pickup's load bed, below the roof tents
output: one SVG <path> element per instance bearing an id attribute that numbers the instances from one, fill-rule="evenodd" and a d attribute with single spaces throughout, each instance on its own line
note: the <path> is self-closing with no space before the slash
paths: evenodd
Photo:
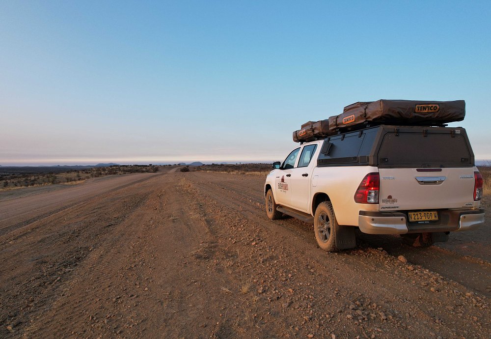
<path id="1" fill-rule="evenodd" d="M 318 166 L 472 167 L 462 127 L 381 125 L 327 137 Z"/>

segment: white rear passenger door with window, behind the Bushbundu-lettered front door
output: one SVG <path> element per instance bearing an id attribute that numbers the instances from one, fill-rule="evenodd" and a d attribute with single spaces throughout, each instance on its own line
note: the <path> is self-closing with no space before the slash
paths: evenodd
<path id="1" fill-rule="evenodd" d="M 292 169 L 291 186 L 292 202 L 291 206 L 299 211 L 307 212 L 310 180 L 312 169 L 317 165 L 314 155 L 316 154 L 317 144 L 305 145 L 300 153 L 299 163 Z"/>

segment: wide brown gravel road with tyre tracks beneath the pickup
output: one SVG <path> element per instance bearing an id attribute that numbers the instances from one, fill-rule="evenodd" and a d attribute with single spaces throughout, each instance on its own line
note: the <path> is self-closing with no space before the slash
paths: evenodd
<path id="1" fill-rule="evenodd" d="M 0 338 L 491 338 L 489 219 L 427 249 L 360 233 L 328 254 L 310 225 L 267 219 L 263 183 L 173 172 L 0 194 Z"/>

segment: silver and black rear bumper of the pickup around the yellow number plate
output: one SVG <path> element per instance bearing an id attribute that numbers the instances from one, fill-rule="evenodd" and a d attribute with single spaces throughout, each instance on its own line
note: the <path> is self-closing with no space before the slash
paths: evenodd
<path id="1" fill-rule="evenodd" d="M 439 221 L 429 224 L 408 222 L 404 212 L 360 211 L 358 226 L 368 234 L 405 234 L 420 232 L 456 232 L 476 229 L 484 224 L 484 210 L 440 210 Z"/>

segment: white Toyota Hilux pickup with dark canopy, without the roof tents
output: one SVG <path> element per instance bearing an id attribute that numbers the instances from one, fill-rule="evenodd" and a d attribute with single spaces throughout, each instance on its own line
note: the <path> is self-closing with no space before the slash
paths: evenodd
<path id="1" fill-rule="evenodd" d="M 355 227 L 426 247 L 484 223 L 483 180 L 464 128 L 380 125 L 296 147 L 264 185 L 270 219 L 314 225 L 320 248 L 356 246 Z"/>

